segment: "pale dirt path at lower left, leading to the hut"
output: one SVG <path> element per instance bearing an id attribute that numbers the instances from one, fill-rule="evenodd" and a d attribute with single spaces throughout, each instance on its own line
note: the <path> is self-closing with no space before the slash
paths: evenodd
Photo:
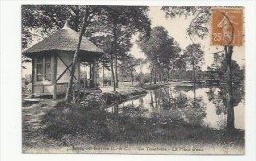
<path id="1" fill-rule="evenodd" d="M 42 117 L 47 111 L 54 108 L 57 101 L 41 100 L 39 103 L 22 107 L 22 141 L 23 149 L 44 147 L 45 141 L 42 134 Z"/>

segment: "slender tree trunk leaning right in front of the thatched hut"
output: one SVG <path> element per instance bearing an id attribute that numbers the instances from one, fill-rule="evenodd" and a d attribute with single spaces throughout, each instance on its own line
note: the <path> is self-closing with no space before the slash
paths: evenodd
<path id="1" fill-rule="evenodd" d="M 70 71 L 70 78 L 69 78 L 69 82 L 68 82 L 68 88 L 67 88 L 67 92 L 66 92 L 66 97 L 65 97 L 65 101 L 67 103 L 70 103 L 71 101 L 71 91 L 72 91 L 72 86 L 73 86 L 73 79 L 74 79 L 74 74 L 75 74 L 75 67 L 76 67 L 76 63 L 77 63 L 77 59 L 78 59 L 78 52 L 80 49 L 80 44 L 81 44 L 81 40 L 82 40 L 82 36 L 86 30 L 86 27 L 88 26 L 88 10 L 86 10 L 86 15 L 84 16 L 83 19 L 83 25 L 79 34 L 79 40 L 78 40 L 78 46 L 77 49 L 75 51 L 74 57 L 73 57 L 73 62 L 72 62 L 72 66 L 71 66 L 71 71 Z"/>

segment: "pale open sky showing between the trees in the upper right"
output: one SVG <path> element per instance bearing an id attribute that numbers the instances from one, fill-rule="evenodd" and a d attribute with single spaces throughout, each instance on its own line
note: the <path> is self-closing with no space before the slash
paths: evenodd
<path id="1" fill-rule="evenodd" d="M 174 19 L 165 18 L 165 13 L 160 10 L 160 6 L 150 6 L 149 18 L 151 19 L 151 28 L 156 26 L 164 27 L 170 36 L 172 36 L 175 41 L 177 41 L 182 49 L 185 49 L 186 46 L 191 44 L 191 40 L 186 33 L 186 29 L 189 27 L 190 21 L 193 19 L 193 16 L 187 17 L 177 17 Z M 137 37 L 134 37 L 133 41 L 135 42 Z M 196 39 L 195 43 L 200 43 L 202 50 L 204 51 L 205 63 L 202 65 L 202 70 L 206 70 L 207 66 L 210 66 L 213 63 L 213 53 L 217 51 L 224 50 L 224 46 L 210 46 L 210 37 L 205 38 L 204 40 Z M 242 66 L 245 64 L 245 51 L 244 47 L 234 47 L 233 49 L 233 60 Z M 140 48 L 134 43 L 131 53 L 136 58 L 146 58 L 145 54 L 141 52 Z M 137 68 L 138 71 L 139 68 Z M 148 71 L 148 65 L 143 67 L 143 71 Z"/>

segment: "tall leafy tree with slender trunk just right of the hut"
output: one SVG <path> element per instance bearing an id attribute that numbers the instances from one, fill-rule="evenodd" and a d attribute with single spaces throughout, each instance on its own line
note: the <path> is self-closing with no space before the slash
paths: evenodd
<path id="1" fill-rule="evenodd" d="M 132 47 L 132 36 L 137 32 L 145 36 L 149 34 L 150 20 L 147 11 L 148 7 L 143 6 L 104 6 L 104 14 L 98 19 L 96 36 L 102 41 L 110 42 L 105 48 L 109 55 L 114 91 L 119 81 L 118 61 Z"/>

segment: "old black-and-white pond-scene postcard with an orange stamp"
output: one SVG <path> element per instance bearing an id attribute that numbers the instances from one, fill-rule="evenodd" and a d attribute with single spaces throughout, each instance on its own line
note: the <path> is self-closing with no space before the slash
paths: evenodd
<path id="1" fill-rule="evenodd" d="M 245 154 L 245 7 L 20 9 L 23 153 Z"/>

